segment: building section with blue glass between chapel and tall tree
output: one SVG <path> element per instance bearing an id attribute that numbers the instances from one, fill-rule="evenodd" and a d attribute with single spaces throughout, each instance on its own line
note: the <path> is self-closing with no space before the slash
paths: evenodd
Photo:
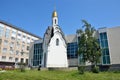
<path id="1" fill-rule="evenodd" d="M 69 67 L 78 65 L 78 37 L 76 34 L 65 36 L 67 42 L 67 59 Z"/>

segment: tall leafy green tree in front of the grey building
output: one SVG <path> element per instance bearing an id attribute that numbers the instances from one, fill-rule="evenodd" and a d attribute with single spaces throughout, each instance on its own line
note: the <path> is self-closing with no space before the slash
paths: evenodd
<path id="1" fill-rule="evenodd" d="M 94 69 L 100 60 L 101 50 L 98 40 L 94 37 L 96 30 L 87 21 L 82 20 L 83 29 L 77 30 L 77 34 L 80 35 L 78 44 L 78 54 L 82 55 L 82 61 L 89 61 Z"/>

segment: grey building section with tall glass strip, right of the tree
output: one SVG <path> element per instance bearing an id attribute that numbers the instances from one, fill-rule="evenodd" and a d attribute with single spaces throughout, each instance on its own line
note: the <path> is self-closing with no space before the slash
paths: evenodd
<path id="1" fill-rule="evenodd" d="M 98 30 L 102 49 L 101 67 L 120 70 L 120 27 L 101 28 Z"/>

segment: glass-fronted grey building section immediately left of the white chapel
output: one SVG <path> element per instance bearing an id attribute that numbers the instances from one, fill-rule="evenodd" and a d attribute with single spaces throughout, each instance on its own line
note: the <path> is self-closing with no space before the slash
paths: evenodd
<path id="1" fill-rule="evenodd" d="M 38 67 L 43 59 L 43 40 L 36 40 L 30 44 L 29 65 Z"/>

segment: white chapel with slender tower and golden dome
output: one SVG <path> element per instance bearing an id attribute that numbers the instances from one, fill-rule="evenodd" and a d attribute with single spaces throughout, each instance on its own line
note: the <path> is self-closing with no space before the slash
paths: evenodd
<path id="1" fill-rule="evenodd" d="M 43 41 L 44 67 L 65 68 L 68 67 L 67 45 L 64 39 L 64 35 L 60 27 L 58 26 L 58 17 L 56 11 L 53 12 L 52 20 L 52 30 L 50 32 L 52 37 L 49 37 L 50 39 L 47 44 L 45 43 L 45 41 Z"/>

